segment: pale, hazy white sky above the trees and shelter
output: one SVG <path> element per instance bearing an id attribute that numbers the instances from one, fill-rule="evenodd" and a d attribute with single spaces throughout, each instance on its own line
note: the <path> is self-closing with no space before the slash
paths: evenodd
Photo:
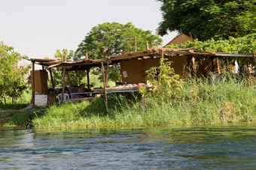
<path id="1" fill-rule="evenodd" d="M 93 26 L 133 22 L 156 34 L 162 21 L 156 0 L 0 0 L 0 41 L 29 58 L 52 58 L 56 49 L 76 50 Z M 163 45 L 177 35 L 161 37 Z"/>

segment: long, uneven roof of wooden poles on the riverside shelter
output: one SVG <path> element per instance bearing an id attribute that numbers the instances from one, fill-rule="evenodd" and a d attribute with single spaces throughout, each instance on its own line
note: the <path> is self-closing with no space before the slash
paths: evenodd
<path id="1" fill-rule="evenodd" d="M 107 58 L 102 59 L 84 59 L 81 61 L 63 61 L 59 58 L 30 58 L 29 61 L 34 62 L 35 64 L 43 65 L 46 67 L 66 67 L 68 70 L 86 70 L 90 67 L 99 67 L 102 63 L 114 64 L 120 61 L 128 60 L 145 60 L 151 58 L 161 58 L 162 52 L 165 58 L 172 57 L 175 55 L 197 55 L 201 57 L 212 56 L 212 57 L 253 57 L 251 54 L 229 54 L 227 52 L 198 52 L 192 48 L 189 49 L 169 49 L 169 48 L 160 48 L 153 47 L 151 49 L 139 52 L 127 52 L 125 54 L 113 55 Z"/>

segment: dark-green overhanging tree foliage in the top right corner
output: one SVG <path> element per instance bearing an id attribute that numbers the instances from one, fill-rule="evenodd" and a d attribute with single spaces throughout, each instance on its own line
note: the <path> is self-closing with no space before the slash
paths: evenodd
<path id="1" fill-rule="evenodd" d="M 158 34 L 179 31 L 199 40 L 243 37 L 256 32 L 255 0 L 158 0 L 163 21 Z"/>

